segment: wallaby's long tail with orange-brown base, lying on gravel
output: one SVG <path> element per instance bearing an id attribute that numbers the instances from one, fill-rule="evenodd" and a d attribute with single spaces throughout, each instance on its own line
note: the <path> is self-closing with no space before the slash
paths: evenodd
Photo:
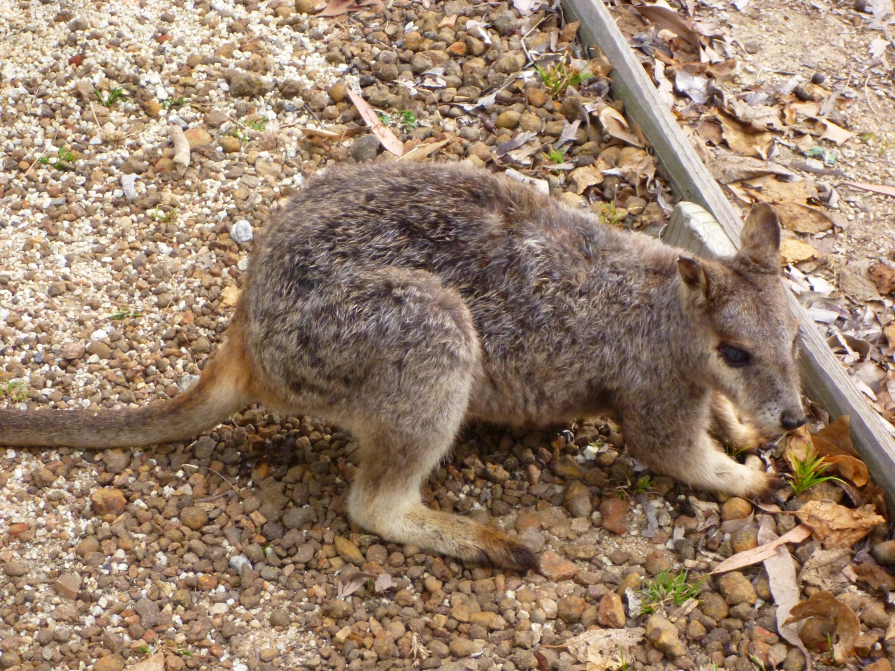
<path id="1" fill-rule="evenodd" d="M 0 446 L 144 447 L 196 437 L 251 403 L 241 334 L 208 361 L 199 382 L 170 401 L 122 410 L 0 410 Z"/>

